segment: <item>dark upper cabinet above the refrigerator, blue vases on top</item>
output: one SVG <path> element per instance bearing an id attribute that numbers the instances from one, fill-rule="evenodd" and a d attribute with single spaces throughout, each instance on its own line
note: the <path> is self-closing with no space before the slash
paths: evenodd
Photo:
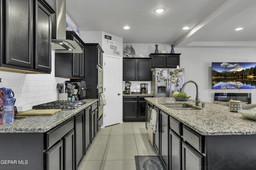
<path id="1" fill-rule="evenodd" d="M 152 58 L 152 67 L 162 67 L 162 68 L 169 68 L 169 67 L 177 67 L 180 65 L 180 55 L 181 54 L 155 54 L 151 53 L 149 56 Z"/>

